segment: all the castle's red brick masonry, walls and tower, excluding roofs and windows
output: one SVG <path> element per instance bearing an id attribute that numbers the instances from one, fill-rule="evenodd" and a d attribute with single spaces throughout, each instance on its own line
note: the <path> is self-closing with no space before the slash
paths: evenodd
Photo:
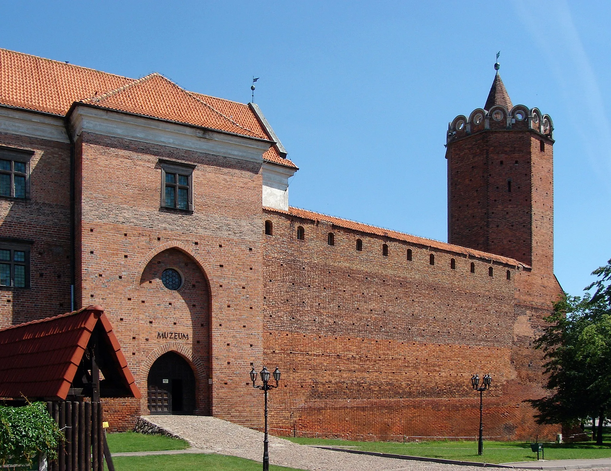
<path id="1" fill-rule="evenodd" d="M 276 429 L 474 436 L 469 379 L 489 373 L 486 435 L 553 438 L 559 428 L 536 426 L 523 403 L 544 394 L 532 341 L 560 293 L 552 143 L 542 151 L 540 141 L 517 126 L 448 150 L 450 241 L 532 265 L 522 268 L 262 210 L 260 162 L 82 133 L 75 307 L 103 305 L 143 395 L 104 400 L 111 429 L 148 413 L 148 371 L 174 351 L 194 371 L 196 414 L 241 425 L 262 425 L 248 372 L 265 363 L 282 370 L 270 393 Z M 0 145 L 34 153 L 31 199 L 0 199 L 0 235 L 34 241 L 32 288 L 0 291 L 0 326 L 9 326 L 69 310 L 70 145 L 10 134 Z M 159 159 L 196 166 L 194 211 L 161 208 Z M 166 268 L 181 272 L 179 290 L 163 287 Z"/>

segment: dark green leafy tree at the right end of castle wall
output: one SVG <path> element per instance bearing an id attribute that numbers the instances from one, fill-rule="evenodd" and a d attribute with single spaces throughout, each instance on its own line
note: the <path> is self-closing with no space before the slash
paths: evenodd
<path id="1" fill-rule="evenodd" d="M 530 400 L 538 423 L 574 424 L 598 417 L 597 444 L 602 423 L 611 412 L 611 260 L 593 271 L 599 279 L 583 298 L 564 294 L 546 318 L 544 334 L 536 341 L 546 368 L 550 396 Z"/>

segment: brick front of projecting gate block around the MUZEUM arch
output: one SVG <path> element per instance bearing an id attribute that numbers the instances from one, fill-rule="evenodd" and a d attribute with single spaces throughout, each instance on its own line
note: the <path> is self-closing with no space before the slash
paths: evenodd
<path id="1" fill-rule="evenodd" d="M 141 413 L 148 370 L 171 350 L 194 370 L 197 413 L 260 425 L 262 398 L 246 387 L 262 357 L 260 164 L 95 134 L 77 145 L 77 295 L 103 305 L 143 393 Z M 192 213 L 159 207 L 159 158 L 197 166 Z M 162 287 L 165 268 L 182 272 L 182 288 Z"/>

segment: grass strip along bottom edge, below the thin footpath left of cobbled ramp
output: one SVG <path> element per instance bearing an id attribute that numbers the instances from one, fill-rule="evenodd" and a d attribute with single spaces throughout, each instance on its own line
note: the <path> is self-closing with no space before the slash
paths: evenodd
<path id="1" fill-rule="evenodd" d="M 250 459 L 224 455 L 117 456 L 112 458 L 117 471 L 260 471 L 262 464 Z M 269 466 L 270 471 L 302 471 Z"/>

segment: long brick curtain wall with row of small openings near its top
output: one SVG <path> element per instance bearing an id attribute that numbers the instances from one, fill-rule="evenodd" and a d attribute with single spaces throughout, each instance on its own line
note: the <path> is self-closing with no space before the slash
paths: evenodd
<path id="1" fill-rule="evenodd" d="M 264 214 L 274 227 L 263 242 L 264 354 L 268 367 L 284 371 L 270 393 L 274 428 L 474 436 L 479 398 L 469 380 L 489 373 L 487 436 L 554 436 L 556 428 L 535 425 L 522 403 L 543 395 L 541 357 L 529 346 L 540 313 L 516 307 L 524 272 L 495 263 L 490 277 L 488 260 Z M 305 240 L 296 238 L 299 225 Z M 327 244 L 329 232 L 335 246 Z"/>

